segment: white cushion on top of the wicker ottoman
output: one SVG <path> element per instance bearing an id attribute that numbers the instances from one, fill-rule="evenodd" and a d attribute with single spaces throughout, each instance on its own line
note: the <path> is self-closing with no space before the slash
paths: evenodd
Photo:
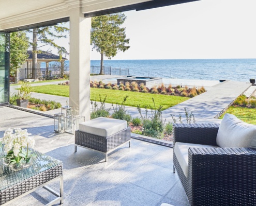
<path id="1" fill-rule="evenodd" d="M 98 136 L 110 136 L 127 127 L 127 122 L 121 119 L 98 117 L 79 124 L 82 132 L 96 134 Z"/>

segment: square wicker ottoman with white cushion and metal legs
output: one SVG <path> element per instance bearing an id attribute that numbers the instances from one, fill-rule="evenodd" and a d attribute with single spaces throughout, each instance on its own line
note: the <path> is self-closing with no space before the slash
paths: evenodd
<path id="1" fill-rule="evenodd" d="M 77 146 L 97 150 L 105 153 L 106 162 L 108 153 L 131 141 L 131 130 L 127 122 L 120 119 L 98 117 L 79 124 L 75 132 L 74 151 Z"/>

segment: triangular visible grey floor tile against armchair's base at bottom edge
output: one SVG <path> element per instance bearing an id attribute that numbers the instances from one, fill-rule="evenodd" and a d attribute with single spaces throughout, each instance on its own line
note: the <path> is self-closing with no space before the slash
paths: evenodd
<path id="1" fill-rule="evenodd" d="M 180 181 L 177 181 L 177 183 L 173 186 L 173 188 L 171 188 L 171 191 L 165 197 L 173 199 L 179 203 L 189 205 L 187 195 Z"/>

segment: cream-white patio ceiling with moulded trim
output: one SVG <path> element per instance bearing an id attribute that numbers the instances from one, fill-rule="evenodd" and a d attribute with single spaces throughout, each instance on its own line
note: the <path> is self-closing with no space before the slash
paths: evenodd
<path id="1" fill-rule="evenodd" d="M 0 0 L 0 30 L 67 18 L 81 13 L 127 6 L 152 0 Z"/>

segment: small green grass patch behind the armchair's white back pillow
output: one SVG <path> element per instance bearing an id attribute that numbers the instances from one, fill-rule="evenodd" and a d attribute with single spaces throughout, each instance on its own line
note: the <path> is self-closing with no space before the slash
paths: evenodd
<path id="1" fill-rule="evenodd" d="M 234 114 L 237 118 L 241 119 L 242 121 L 249 124 L 256 125 L 256 109 L 255 108 L 231 106 L 225 113 Z M 220 116 L 220 119 L 223 118 L 224 114 Z"/>

